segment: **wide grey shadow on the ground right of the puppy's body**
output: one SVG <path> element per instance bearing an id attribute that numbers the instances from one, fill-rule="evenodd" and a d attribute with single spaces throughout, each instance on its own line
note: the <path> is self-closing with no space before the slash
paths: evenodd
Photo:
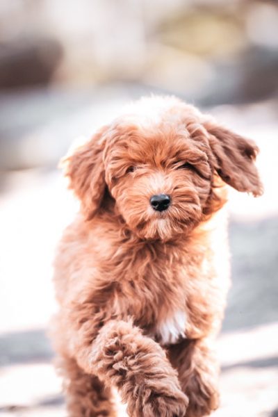
<path id="1" fill-rule="evenodd" d="M 278 218 L 231 221 L 232 286 L 222 331 L 278 320 Z"/>

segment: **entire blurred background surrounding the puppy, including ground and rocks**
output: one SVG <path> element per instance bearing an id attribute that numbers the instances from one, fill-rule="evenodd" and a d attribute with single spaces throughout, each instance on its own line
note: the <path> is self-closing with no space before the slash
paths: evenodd
<path id="1" fill-rule="evenodd" d="M 56 167 L 76 137 L 151 92 L 192 102 L 261 148 L 263 197 L 230 193 L 214 416 L 278 416 L 274 0 L 1 0 L 1 416 L 66 416 L 47 327 L 51 261 L 76 202 Z"/>

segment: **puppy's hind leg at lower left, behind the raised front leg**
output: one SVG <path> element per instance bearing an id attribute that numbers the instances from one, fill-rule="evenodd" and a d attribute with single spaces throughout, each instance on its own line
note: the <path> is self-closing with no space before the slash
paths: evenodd
<path id="1" fill-rule="evenodd" d="M 111 390 L 99 378 L 88 375 L 71 358 L 59 358 L 57 368 L 63 377 L 69 417 L 115 417 Z"/>

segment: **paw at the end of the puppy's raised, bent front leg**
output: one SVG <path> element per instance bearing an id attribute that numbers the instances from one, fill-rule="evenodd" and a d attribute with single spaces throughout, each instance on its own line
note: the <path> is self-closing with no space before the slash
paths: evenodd
<path id="1" fill-rule="evenodd" d="M 184 417 L 187 407 L 188 397 L 181 391 L 157 393 L 147 390 L 137 398 L 136 404 L 129 404 L 128 413 L 132 417 Z"/>

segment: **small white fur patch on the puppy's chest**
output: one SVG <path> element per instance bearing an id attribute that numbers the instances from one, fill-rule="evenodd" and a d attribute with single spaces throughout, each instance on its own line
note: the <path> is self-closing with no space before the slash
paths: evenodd
<path id="1" fill-rule="evenodd" d="M 156 327 L 156 336 L 160 336 L 162 345 L 177 343 L 186 337 L 186 313 L 182 310 L 174 311 Z"/>

